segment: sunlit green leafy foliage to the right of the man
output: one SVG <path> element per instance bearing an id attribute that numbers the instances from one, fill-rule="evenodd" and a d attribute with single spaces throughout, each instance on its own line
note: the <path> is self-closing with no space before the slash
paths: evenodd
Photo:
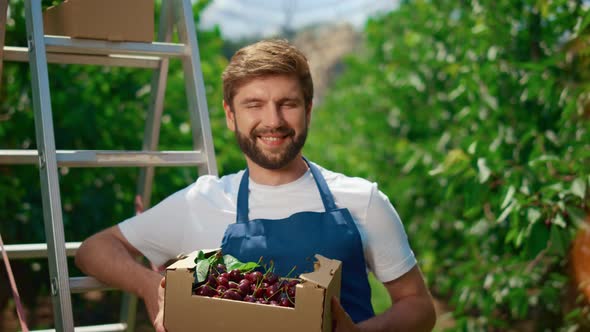
<path id="1" fill-rule="evenodd" d="M 571 323 L 588 17 L 579 1 L 404 1 L 367 24 L 365 52 L 314 111 L 306 155 L 378 181 L 458 330 Z"/>

